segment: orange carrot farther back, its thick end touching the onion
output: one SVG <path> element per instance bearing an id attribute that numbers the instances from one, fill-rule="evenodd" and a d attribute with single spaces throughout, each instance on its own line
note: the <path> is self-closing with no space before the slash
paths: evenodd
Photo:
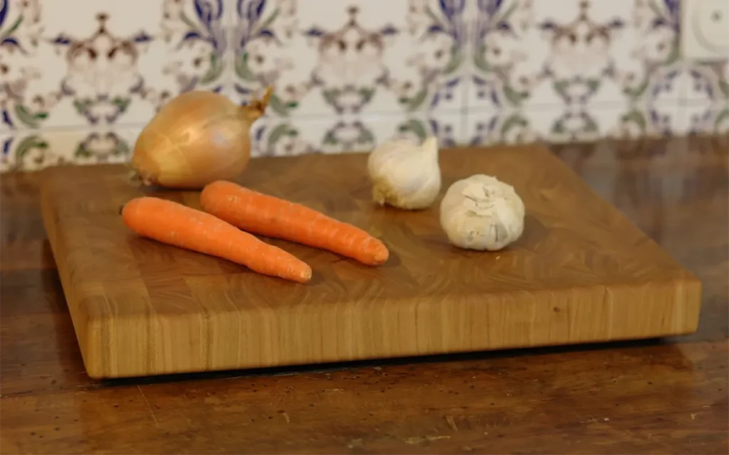
<path id="1" fill-rule="evenodd" d="M 200 205 L 244 231 L 321 248 L 362 264 L 376 266 L 389 257 L 386 246 L 362 229 L 230 181 L 209 183 L 200 194 Z"/>

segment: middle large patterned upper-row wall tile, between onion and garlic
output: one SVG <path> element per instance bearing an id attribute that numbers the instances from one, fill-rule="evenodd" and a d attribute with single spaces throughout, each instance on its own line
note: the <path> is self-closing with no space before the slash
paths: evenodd
<path id="1" fill-rule="evenodd" d="M 242 5 L 230 32 L 238 103 L 273 86 L 268 115 L 284 118 L 462 107 L 463 1 Z"/>

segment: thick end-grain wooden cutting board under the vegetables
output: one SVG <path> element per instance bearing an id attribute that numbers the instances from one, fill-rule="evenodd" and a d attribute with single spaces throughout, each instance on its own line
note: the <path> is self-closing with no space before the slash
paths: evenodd
<path id="1" fill-rule="evenodd" d="M 523 198 L 523 237 L 498 253 L 459 250 L 438 204 L 370 202 L 365 154 L 254 159 L 241 183 L 381 238 L 372 268 L 269 240 L 310 264 L 308 285 L 137 237 L 120 207 L 152 194 L 121 165 L 44 171 L 42 210 L 93 378 L 640 339 L 695 331 L 701 283 L 549 151 L 447 150 L 443 192 L 474 173 Z"/>

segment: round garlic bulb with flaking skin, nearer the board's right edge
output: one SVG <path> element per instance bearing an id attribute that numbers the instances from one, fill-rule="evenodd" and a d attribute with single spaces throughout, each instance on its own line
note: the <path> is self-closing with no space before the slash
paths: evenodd
<path id="1" fill-rule="evenodd" d="M 497 251 L 521 237 L 524 203 L 514 187 L 491 175 L 456 181 L 440 202 L 440 225 L 459 248 Z"/>

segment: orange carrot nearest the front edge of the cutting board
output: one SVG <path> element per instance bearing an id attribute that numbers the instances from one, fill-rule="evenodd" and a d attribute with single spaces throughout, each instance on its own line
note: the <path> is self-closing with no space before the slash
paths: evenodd
<path id="1" fill-rule="evenodd" d="M 177 202 L 137 197 L 124 205 L 122 220 L 136 234 L 157 242 L 224 258 L 273 277 L 311 280 L 311 267 L 281 248 Z"/>

